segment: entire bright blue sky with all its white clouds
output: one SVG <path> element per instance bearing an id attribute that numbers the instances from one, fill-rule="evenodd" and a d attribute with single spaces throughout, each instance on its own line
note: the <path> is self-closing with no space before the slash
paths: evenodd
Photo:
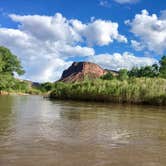
<path id="1" fill-rule="evenodd" d="M 166 1 L 0 0 L 0 45 L 37 82 L 58 80 L 73 61 L 152 65 L 166 53 Z"/>

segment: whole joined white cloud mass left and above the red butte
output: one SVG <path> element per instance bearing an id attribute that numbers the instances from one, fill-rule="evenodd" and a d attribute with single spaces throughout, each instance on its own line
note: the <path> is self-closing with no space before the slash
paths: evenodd
<path id="1" fill-rule="evenodd" d="M 118 24 L 105 20 L 83 23 L 55 16 L 11 14 L 17 28 L 0 27 L 0 45 L 6 46 L 22 61 L 23 78 L 33 81 L 55 81 L 72 62 L 70 58 L 95 55 L 94 45 L 103 46 L 114 40 L 127 42 L 119 34 Z"/>

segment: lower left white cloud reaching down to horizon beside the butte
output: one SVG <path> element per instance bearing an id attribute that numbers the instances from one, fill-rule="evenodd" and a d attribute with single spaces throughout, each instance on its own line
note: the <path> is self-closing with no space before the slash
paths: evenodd
<path id="1" fill-rule="evenodd" d="M 68 45 L 60 41 L 43 41 L 25 32 L 0 29 L 0 45 L 19 56 L 26 70 L 25 77 L 33 81 L 54 81 L 71 64 L 70 57 L 94 55 L 93 48 Z"/>

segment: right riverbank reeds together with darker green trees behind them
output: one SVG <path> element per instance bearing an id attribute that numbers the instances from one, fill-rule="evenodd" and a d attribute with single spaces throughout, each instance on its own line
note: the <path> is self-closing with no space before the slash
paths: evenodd
<path id="1" fill-rule="evenodd" d="M 166 56 L 159 65 L 108 72 L 100 79 L 56 83 L 51 98 L 166 105 Z"/>

